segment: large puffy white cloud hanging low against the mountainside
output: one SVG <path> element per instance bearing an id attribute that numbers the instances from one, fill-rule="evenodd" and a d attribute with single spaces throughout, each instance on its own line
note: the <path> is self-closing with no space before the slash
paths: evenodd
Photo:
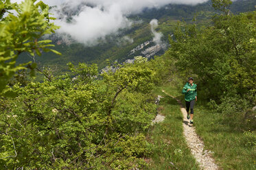
<path id="1" fill-rule="evenodd" d="M 118 29 L 130 27 L 130 21 L 121 13 L 119 8 L 110 8 L 102 11 L 97 6 L 86 6 L 78 16 L 73 16 L 73 21 L 67 23 L 65 19 L 55 21 L 60 25 L 59 33 L 70 34 L 71 37 L 85 45 L 95 45 L 99 38 L 108 34 L 115 34 Z"/>

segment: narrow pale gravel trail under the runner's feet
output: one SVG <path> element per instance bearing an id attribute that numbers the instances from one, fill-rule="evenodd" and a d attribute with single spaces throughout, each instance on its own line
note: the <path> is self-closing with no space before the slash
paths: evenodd
<path id="1" fill-rule="evenodd" d="M 164 90 L 163 93 L 165 93 Z M 165 94 L 169 95 L 167 93 Z M 169 96 L 172 97 L 171 95 Z M 175 97 L 172 98 L 176 99 Z M 193 125 L 189 123 L 189 120 L 187 120 L 187 111 L 183 107 L 183 104 L 178 99 L 176 99 L 176 101 L 181 105 L 181 112 L 183 113 L 183 134 L 186 138 L 187 145 L 191 149 L 191 153 L 196 158 L 196 161 L 199 163 L 200 168 L 209 170 L 219 169 L 211 156 L 213 152 L 204 150 L 205 145 L 203 141 L 196 134 L 195 127 L 193 127 Z"/>

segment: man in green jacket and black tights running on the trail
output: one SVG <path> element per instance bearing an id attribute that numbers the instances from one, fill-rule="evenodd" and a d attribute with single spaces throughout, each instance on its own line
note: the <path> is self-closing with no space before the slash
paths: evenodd
<path id="1" fill-rule="evenodd" d="M 193 115 L 194 115 L 194 105 L 197 101 L 197 85 L 193 83 L 194 78 L 189 77 L 187 84 L 183 87 L 182 93 L 185 94 L 185 102 L 187 108 L 187 119 L 190 118 L 190 123 L 193 123 Z M 190 108 L 190 117 L 189 117 L 189 108 Z"/>

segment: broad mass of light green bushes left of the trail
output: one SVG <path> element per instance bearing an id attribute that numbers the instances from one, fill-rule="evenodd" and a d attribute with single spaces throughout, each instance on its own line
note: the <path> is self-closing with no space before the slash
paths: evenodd
<path id="1" fill-rule="evenodd" d="M 0 99 L 0 169 L 143 168 L 156 112 L 147 62 L 95 74 L 79 64 L 51 82 L 13 87 Z"/>

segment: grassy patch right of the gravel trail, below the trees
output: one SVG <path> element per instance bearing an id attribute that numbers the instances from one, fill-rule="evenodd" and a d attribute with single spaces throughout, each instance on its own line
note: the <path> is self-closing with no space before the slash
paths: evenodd
<path id="1" fill-rule="evenodd" d="M 256 146 L 241 128 L 242 114 L 222 115 L 203 107 L 196 110 L 196 132 L 222 169 L 256 169 Z"/>

